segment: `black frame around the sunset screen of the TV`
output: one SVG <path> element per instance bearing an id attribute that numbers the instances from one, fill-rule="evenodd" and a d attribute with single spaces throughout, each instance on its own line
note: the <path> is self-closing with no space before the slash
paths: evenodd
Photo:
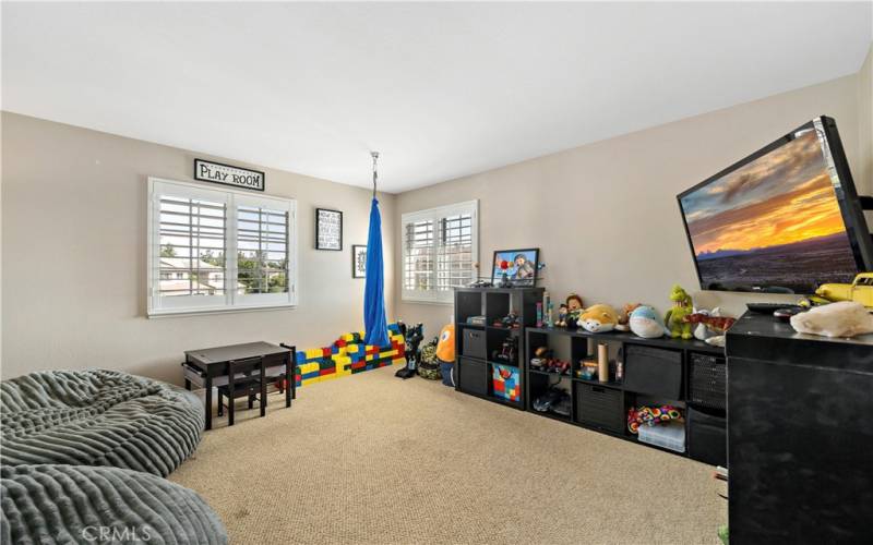
<path id="1" fill-rule="evenodd" d="M 858 192 L 854 187 L 854 181 L 852 180 L 852 174 L 849 171 L 849 162 L 846 159 L 846 153 L 842 148 L 842 141 L 839 137 L 839 132 L 837 131 L 837 122 L 834 121 L 833 118 L 828 118 L 827 116 L 820 116 L 806 123 L 803 123 L 799 128 L 794 129 L 793 131 L 789 132 L 781 138 L 778 138 L 768 145 L 762 147 L 757 152 L 740 159 L 739 161 L 734 162 L 730 167 L 720 170 L 714 175 L 710 175 L 703 182 L 690 187 L 679 195 L 677 195 L 677 203 L 679 204 L 679 211 L 682 215 L 682 225 L 685 228 L 685 238 L 689 242 L 689 249 L 691 249 L 692 257 L 694 258 L 694 270 L 697 274 L 697 281 L 701 284 L 701 289 L 705 291 L 732 291 L 739 293 L 785 293 L 782 291 L 774 290 L 774 287 L 767 286 L 753 286 L 750 291 L 739 291 L 736 289 L 714 289 L 707 288 L 704 286 L 703 277 L 701 277 L 701 269 L 697 264 L 697 257 L 694 254 L 694 242 L 691 239 L 691 231 L 689 231 L 689 223 L 685 217 L 685 210 L 682 208 L 682 198 L 691 193 L 699 191 L 704 186 L 708 185 L 709 183 L 721 179 L 726 174 L 733 172 L 734 170 L 744 167 L 745 165 L 767 155 L 768 153 L 773 152 L 774 149 L 781 147 L 789 142 L 793 141 L 801 134 L 806 133 L 808 131 L 816 131 L 821 134 L 824 134 L 825 143 L 827 144 L 826 157 L 825 160 L 828 159 L 834 165 L 834 169 L 837 172 L 838 184 L 834 184 L 834 180 L 832 177 L 832 185 L 834 187 L 834 192 L 837 195 L 837 204 L 840 209 L 840 215 L 842 216 L 842 222 L 846 226 L 846 234 L 849 238 L 849 244 L 852 249 L 852 254 L 854 256 L 854 262 L 858 265 L 860 270 L 873 270 L 873 238 L 871 238 L 870 231 L 868 231 L 866 220 L 864 219 L 864 213 L 861 207 L 861 199 L 858 197 Z M 829 155 L 829 157 L 827 157 Z M 774 290 L 774 291 L 769 291 Z M 800 294 L 800 293 L 798 293 Z"/>

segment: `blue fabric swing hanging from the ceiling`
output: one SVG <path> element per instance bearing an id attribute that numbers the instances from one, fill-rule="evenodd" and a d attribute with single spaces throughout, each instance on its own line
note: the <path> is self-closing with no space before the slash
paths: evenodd
<path id="1" fill-rule="evenodd" d="M 388 324 L 385 319 L 385 269 L 382 264 L 382 216 L 379 201 L 370 207 L 370 233 L 367 238 L 367 279 L 363 288 L 364 343 L 374 347 L 388 344 Z"/>

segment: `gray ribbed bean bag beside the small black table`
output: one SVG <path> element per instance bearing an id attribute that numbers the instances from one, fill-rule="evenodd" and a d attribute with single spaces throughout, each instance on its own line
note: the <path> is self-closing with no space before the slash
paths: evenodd
<path id="1" fill-rule="evenodd" d="M 2 465 L 112 465 L 166 476 L 202 429 L 196 396 L 128 373 L 47 371 L 0 383 Z"/>

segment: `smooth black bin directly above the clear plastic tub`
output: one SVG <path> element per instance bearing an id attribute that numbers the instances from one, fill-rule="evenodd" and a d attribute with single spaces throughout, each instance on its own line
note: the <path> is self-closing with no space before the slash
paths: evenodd
<path id="1" fill-rule="evenodd" d="M 682 352 L 625 344 L 624 389 L 665 400 L 681 400 Z"/>

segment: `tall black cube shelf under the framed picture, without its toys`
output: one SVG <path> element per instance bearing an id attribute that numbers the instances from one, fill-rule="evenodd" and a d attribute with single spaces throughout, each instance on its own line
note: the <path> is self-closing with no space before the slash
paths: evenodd
<path id="1" fill-rule="evenodd" d="M 527 403 L 524 372 L 525 328 L 537 319 L 537 303 L 542 301 L 542 288 L 455 288 L 455 389 L 524 410 Z M 494 326 L 510 311 L 518 315 L 522 327 Z M 468 324 L 471 316 L 485 316 L 486 325 Z M 492 358 L 503 341 L 514 336 L 518 339 L 516 361 L 497 362 Z M 521 400 L 509 401 L 494 396 L 492 373 L 494 365 L 518 367 Z"/>

